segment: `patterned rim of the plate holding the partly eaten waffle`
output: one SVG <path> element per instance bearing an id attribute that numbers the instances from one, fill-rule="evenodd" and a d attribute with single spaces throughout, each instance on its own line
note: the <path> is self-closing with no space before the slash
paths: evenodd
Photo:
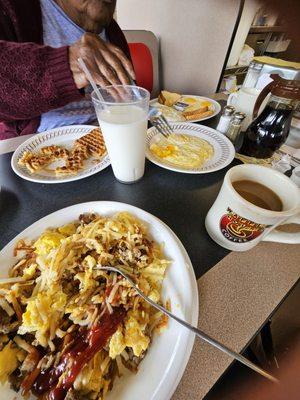
<path id="1" fill-rule="evenodd" d="M 31 177 L 31 176 L 27 176 L 27 175 L 24 175 L 20 170 L 19 170 L 19 168 L 17 167 L 17 162 L 18 162 L 18 153 L 21 151 L 21 149 L 24 147 L 24 146 L 27 146 L 28 144 L 30 144 L 33 140 L 35 140 L 36 138 L 39 138 L 39 137 L 42 137 L 42 136 L 44 136 L 45 134 L 51 134 L 51 133 L 53 133 L 53 132 L 55 132 L 55 131 L 57 131 L 57 130 L 65 130 L 65 129 L 80 129 L 80 128 L 84 128 L 84 129 L 95 129 L 95 128 L 97 128 L 98 126 L 96 126 L 96 125 L 65 125 L 65 126 L 61 126 L 61 127 L 57 127 L 57 128 L 53 128 L 53 129 L 49 129 L 49 130 L 47 130 L 47 131 L 43 131 L 43 132 L 39 132 L 39 133 L 36 133 L 36 134 L 34 134 L 33 136 L 31 136 L 30 138 L 28 138 L 27 140 L 25 140 L 23 143 L 21 143 L 17 148 L 16 148 L 16 150 L 13 152 L 13 155 L 12 155 L 12 157 L 11 157 L 11 162 L 10 162 L 10 164 L 11 164 L 11 168 L 12 168 L 12 170 L 14 171 L 14 173 L 16 174 L 16 175 L 18 175 L 20 178 L 22 178 L 22 179 L 25 179 L 25 180 L 27 180 L 27 181 L 29 181 L 29 182 L 34 182 L 34 183 L 40 183 L 40 184 L 57 184 L 57 183 L 67 183 L 67 182 L 73 182 L 73 181 L 78 181 L 78 180 L 80 180 L 80 179 L 85 179 L 85 178 L 88 178 L 89 176 L 92 176 L 92 175 L 95 175 L 95 174 L 97 174 L 98 172 L 101 172 L 101 171 L 103 171 L 104 169 L 106 169 L 107 167 L 109 167 L 110 166 L 110 160 L 109 160 L 109 156 L 108 156 L 108 153 L 106 153 L 106 155 L 103 157 L 103 159 L 101 160 L 102 162 L 104 162 L 104 166 L 103 166 L 103 168 L 101 168 L 100 170 L 96 170 L 96 171 L 92 171 L 92 172 L 89 172 L 89 173 L 87 173 L 87 174 L 85 174 L 85 175 L 80 175 L 80 176 L 78 176 L 78 175 L 72 175 L 72 176 L 66 176 L 65 178 L 62 178 L 62 179 L 59 179 L 59 180 L 50 180 L 50 179 L 47 179 L 47 178 L 45 178 L 45 179 L 37 179 L 37 178 L 35 178 L 34 177 L 34 175 Z M 97 164 L 96 164 L 97 165 Z"/>

